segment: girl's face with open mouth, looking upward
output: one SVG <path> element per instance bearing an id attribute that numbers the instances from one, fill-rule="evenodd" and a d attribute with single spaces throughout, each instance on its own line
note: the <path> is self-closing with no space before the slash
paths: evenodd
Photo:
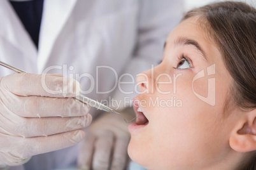
<path id="1" fill-rule="evenodd" d="M 223 116 L 232 79 L 197 18 L 169 34 L 162 62 L 137 82 L 134 110 L 143 114 L 136 111 L 138 120 L 129 126 L 132 160 L 146 169 L 206 169 L 231 154 L 236 116 Z"/>

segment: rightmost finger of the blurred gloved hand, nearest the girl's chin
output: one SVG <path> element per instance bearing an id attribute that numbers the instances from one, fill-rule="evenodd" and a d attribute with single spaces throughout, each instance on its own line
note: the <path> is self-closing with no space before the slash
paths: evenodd
<path id="1" fill-rule="evenodd" d="M 113 150 L 113 159 L 111 163 L 111 170 L 125 169 L 127 163 L 127 147 L 129 138 L 127 136 L 118 136 L 115 141 L 115 148 Z"/>

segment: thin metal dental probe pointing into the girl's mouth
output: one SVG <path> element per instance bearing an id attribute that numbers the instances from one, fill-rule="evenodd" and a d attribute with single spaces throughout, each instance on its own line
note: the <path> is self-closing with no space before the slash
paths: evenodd
<path id="1" fill-rule="evenodd" d="M 10 70 L 13 70 L 13 71 L 15 71 L 17 73 L 25 72 L 24 70 L 20 70 L 17 67 L 13 67 L 13 66 L 8 65 L 7 63 L 4 63 L 4 62 L 0 62 L 0 65 L 2 65 L 3 67 L 8 68 Z M 79 95 L 79 96 L 75 96 L 73 98 L 75 98 L 76 100 L 81 101 L 82 103 L 86 103 L 87 105 L 90 105 L 91 107 L 95 107 L 95 108 L 97 108 L 99 110 L 103 110 L 105 112 L 110 112 L 111 114 L 117 114 L 117 115 L 120 115 L 121 117 L 123 117 L 121 114 L 119 114 L 118 112 L 116 112 L 112 108 L 107 107 L 106 105 L 103 105 L 103 103 L 100 103 L 99 101 L 93 100 L 91 98 L 87 98 L 86 96 Z M 133 119 L 131 119 L 131 121 L 133 121 L 136 118 L 137 117 L 134 117 Z M 126 121 L 124 117 L 123 117 L 123 119 L 124 119 L 124 121 L 126 123 L 131 122 L 131 121 Z"/>

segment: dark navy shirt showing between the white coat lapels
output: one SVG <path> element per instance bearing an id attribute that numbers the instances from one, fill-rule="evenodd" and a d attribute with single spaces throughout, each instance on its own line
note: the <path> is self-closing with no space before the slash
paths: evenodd
<path id="1" fill-rule="evenodd" d="M 10 1 L 13 9 L 38 48 L 39 31 L 43 12 L 43 0 Z"/>

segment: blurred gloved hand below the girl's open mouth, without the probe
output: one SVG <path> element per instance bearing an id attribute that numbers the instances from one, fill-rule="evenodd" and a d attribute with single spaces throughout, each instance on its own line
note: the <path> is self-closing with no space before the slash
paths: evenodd
<path id="1" fill-rule="evenodd" d="M 92 122 L 78 156 L 78 169 L 125 169 L 130 140 L 128 125 L 122 117 L 110 113 Z"/>

